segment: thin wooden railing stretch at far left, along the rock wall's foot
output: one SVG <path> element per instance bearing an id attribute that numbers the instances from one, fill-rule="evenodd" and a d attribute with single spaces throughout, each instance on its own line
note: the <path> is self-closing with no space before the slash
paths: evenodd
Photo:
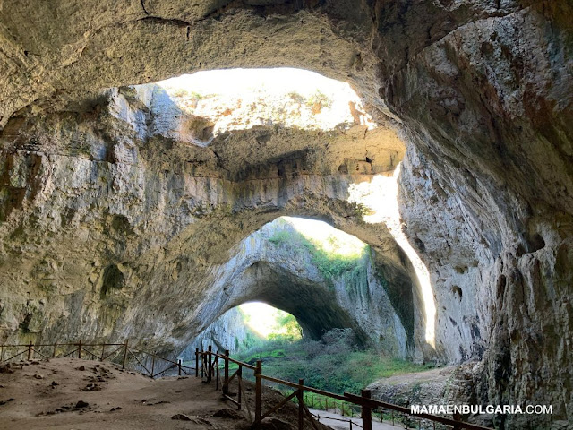
<path id="1" fill-rule="evenodd" d="M 7 356 L 7 357 L 5 357 Z M 116 364 L 121 365 L 122 369 L 130 363 L 137 363 L 139 368 L 135 370 L 146 374 L 151 378 L 156 378 L 165 374 L 171 369 L 176 369 L 177 374 L 189 375 L 194 370 L 193 367 L 184 366 L 181 360 L 173 361 L 165 357 L 129 346 L 129 340 L 124 343 L 84 343 L 79 340 L 77 343 L 50 343 L 34 344 L 30 341 L 28 344 L 19 345 L 0 345 L 0 364 L 13 361 L 14 359 L 26 357 L 28 361 L 36 357 L 64 358 L 64 357 L 89 357 L 94 360 L 104 361 L 113 357 Z M 133 361 L 132 361 L 133 358 Z M 167 363 L 167 366 L 166 366 Z M 158 365 L 163 364 L 162 370 L 158 370 Z"/>

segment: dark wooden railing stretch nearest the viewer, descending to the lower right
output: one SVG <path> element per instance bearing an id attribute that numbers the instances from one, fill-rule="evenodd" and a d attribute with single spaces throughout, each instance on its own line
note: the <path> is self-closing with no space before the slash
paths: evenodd
<path id="1" fill-rule="evenodd" d="M 223 379 L 220 380 L 220 369 L 219 369 L 219 359 L 223 361 Z M 238 369 L 234 374 L 229 375 L 229 364 L 234 363 L 238 366 Z M 213 352 L 212 348 L 209 347 L 207 351 L 195 350 L 195 369 L 196 376 L 201 373 L 202 378 L 206 378 L 208 383 L 212 382 L 215 378 L 216 387 L 219 387 L 223 391 L 223 396 L 225 399 L 231 401 L 240 410 L 244 406 L 247 408 L 249 419 L 251 420 L 252 429 L 257 428 L 261 421 L 277 412 L 278 409 L 286 405 L 287 402 L 294 400 L 298 404 L 298 429 L 304 429 L 304 417 L 307 418 L 308 422 L 316 429 L 319 430 L 319 426 L 316 420 L 312 416 L 308 407 L 304 401 L 304 392 L 312 392 L 314 394 L 319 394 L 329 399 L 342 400 L 346 403 L 350 403 L 358 406 L 361 409 L 362 418 L 362 428 L 363 430 L 372 430 L 372 411 L 381 410 L 392 412 L 392 421 L 394 421 L 394 413 L 401 414 L 406 417 L 406 422 L 408 420 L 417 421 L 418 427 L 421 426 L 422 421 L 426 421 L 433 428 L 441 429 L 452 429 L 452 430 L 491 430 L 489 427 L 477 426 L 475 424 L 466 423 L 463 421 L 458 421 L 448 417 L 440 417 L 431 414 L 413 414 L 410 409 L 403 406 L 395 405 L 392 403 L 384 402 L 381 400 L 375 400 L 371 398 L 370 390 L 362 390 L 361 395 L 352 394 L 345 392 L 344 394 L 336 394 L 334 392 L 323 391 L 317 388 L 309 387 L 304 385 L 304 380 L 299 379 L 298 383 L 291 383 L 289 381 L 284 381 L 282 379 L 273 378 L 266 374 L 262 374 L 262 361 L 258 360 L 256 366 L 249 365 L 238 360 L 229 357 L 229 351 L 226 350 L 225 354 L 219 354 L 219 352 Z M 201 369 L 201 370 L 200 370 Z M 249 402 L 245 399 L 245 391 L 243 389 L 243 370 L 252 370 L 255 379 L 255 399 L 254 399 L 254 417 L 249 406 Z M 236 400 L 229 395 L 229 384 L 233 380 L 237 380 L 238 391 L 236 394 Z M 279 401 L 276 405 L 268 409 L 267 411 L 262 410 L 262 381 L 268 381 L 269 383 L 276 383 L 278 385 L 286 386 L 294 391 L 286 395 L 285 398 Z M 383 413 L 381 414 L 383 417 Z M 352 424 L 351 424 L 352 426 Z M 356 424 L 355 424 L 356 426 Z M 440 427 L 437 427 L 440 426 Z M 352 427 L 351 427 L 352 428 Z"/>

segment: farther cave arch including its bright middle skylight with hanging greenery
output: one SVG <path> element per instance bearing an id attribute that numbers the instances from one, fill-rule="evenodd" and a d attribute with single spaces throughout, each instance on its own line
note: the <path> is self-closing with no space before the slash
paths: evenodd
<path id="1" fill-rule="evenodd" d="M 357 237 L 320 220 L 279 217 L 246 237 L 233 254 L 228 274 L 210 290 L 218 306 L 204 315 L 206 322 L 261 301 L 294 315 L 306 339 L 352 329 L 362 346 L 410 356 L 411 284 L 390 285 L 372 247 Z"/>

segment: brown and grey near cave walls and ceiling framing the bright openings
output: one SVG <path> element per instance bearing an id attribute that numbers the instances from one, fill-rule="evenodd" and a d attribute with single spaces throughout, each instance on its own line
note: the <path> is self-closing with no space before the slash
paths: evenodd
<path id="1" fill-rule="evenodd" d="M 566 428 L 571 16 L 568 0 L 0 1 L 0 340 L 176 355 L 247 236 L 322 219 L 409 291 L 412 359 L 475 362 L 479 403 L 553 408 L 492 425 Z M 378 127 L 162 133 L 152 82 L 257 67 L 348 82 Z M 400 244 L 348 200 L 399 161 Z"/>

